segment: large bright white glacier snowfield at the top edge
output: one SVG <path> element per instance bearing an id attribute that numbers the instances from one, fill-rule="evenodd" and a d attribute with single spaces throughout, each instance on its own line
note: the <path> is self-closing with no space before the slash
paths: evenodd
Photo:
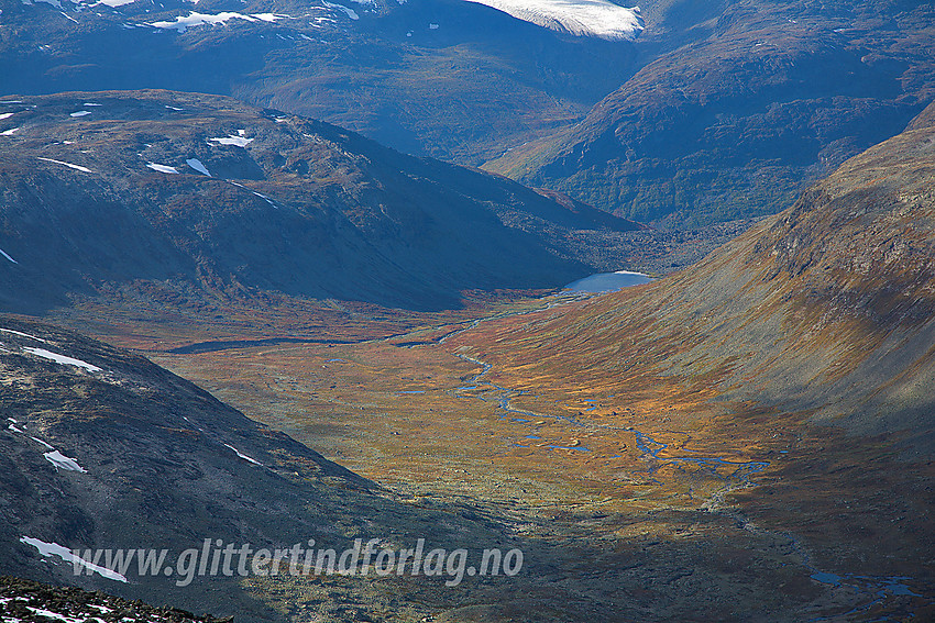
<path id="1" fill-rule="evenodd" d="M 607 0 L 468 0 L 517 20 L 578 36 L 632 41 L 644 29 L 639 7 L 627 9 Z"/>

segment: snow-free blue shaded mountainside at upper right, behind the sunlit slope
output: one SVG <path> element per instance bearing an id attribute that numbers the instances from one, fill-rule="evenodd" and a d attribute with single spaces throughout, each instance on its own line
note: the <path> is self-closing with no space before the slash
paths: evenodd
<path id="1" fill-rule="evenodd" d="M 768 214 L 933 98 L 930 3 L 695 4 L 662 8 L 694 23 L 684 34 L 647 16 L 642 46 L 683 46 L 648 58 L 574 127 L 486 168 L 642 221 Z"/>

